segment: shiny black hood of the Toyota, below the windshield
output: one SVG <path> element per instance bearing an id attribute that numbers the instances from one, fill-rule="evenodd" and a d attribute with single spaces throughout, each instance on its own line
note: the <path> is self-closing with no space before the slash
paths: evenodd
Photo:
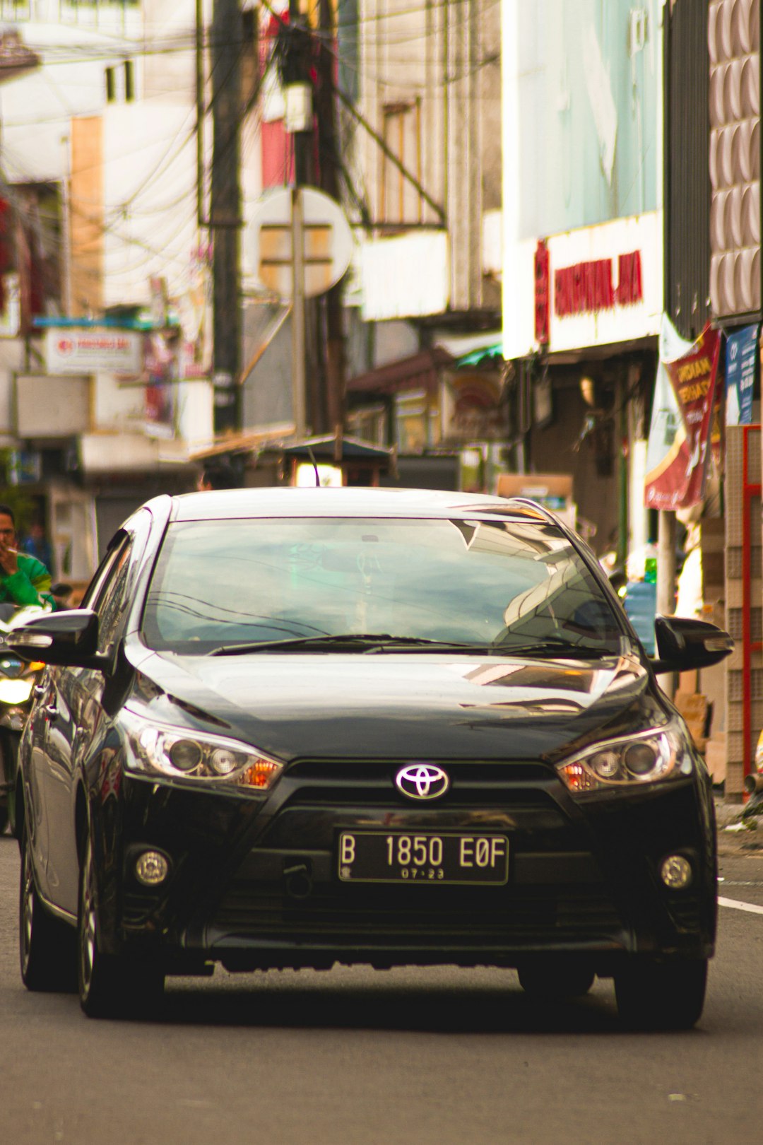
<path id="1" fill-rule="evenodd" d="M 285 760 L 537 758 L 617 722 L 634 703 L 646 709 L 655 690 L 633 655 L 153 654 L 138 677 L 143 686 L 133 698 L 143 697 L 145 716 L 196 724 L 206 713 L 218 731 L 222 722 L 228 734 Z"/>

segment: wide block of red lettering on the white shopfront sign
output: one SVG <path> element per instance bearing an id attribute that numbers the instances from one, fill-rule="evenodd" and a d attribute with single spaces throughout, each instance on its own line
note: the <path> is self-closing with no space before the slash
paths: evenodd
<path id="1" fill-rule="evenodd" d="M 643 301 L 641 251 L 619 254 L 614 282 L 614 259 L 594 259 L 554 271 L 554 313 L 558 318 L 573 314 L 612 310 Z"/>

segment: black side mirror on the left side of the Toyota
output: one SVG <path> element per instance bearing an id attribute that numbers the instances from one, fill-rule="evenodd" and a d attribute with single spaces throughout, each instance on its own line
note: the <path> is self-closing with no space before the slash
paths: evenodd
<path id="1" fill-rule="evenodd" d="M 104 669 L 109 656 L 98 652 L 98 617 L 89 608 L 45 613 L 13 629 L 6 643 L 22 660 L 69 668 Z"/>

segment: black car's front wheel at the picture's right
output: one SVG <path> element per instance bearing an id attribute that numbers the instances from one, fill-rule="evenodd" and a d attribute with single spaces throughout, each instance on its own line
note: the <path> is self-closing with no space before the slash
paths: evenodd
<path id="1" fill-rule="evenodd" d="M 707 958 L 635 961 L 614 976 L 618 1012 L 634 1029 L 691 1029 L 706 986 Z"/>

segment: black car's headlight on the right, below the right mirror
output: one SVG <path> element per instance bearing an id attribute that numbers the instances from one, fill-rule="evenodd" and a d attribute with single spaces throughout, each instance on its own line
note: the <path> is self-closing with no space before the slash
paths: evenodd
<path id="1" fill-rule="evenodd" d="M 604 788 L 630 788 L 691 775 L 686 739 L 676 724 L 586 748 L 556 769 L 573 795 Z"/>

